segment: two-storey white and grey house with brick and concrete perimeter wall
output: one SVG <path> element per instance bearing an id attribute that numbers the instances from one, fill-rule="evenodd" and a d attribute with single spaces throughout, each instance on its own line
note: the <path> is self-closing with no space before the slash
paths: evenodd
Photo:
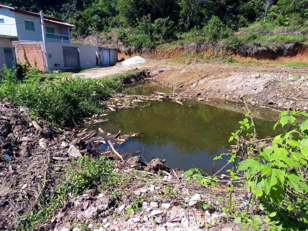
<path id="1" fill-rule="evenodd" d="M 11 55 L 6 54 L 10 49 L 16 61 L 24 61 L 26 55 L 30 64 L 35 60 L 42 71 L 117 62 L 116 49 L 71 44 L 73 27 L 61 19 L 43 15 L 42 11 L 38 14 L 0 5 L 0 63 L 12 63 Z"/>

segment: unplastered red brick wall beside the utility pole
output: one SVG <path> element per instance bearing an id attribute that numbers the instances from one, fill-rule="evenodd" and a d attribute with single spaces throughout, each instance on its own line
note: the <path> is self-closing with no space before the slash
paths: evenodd
<path id="1" fill-rule="evenodd" d="M 45 52 L 44 48 L 41 44 L 17 44 L 17 59 L 19 62 L 24 62 L 25 59 L 23 58 L 23 49 L 25 47 L 26 56 L 29 60 L 31 66 L 34 65 L 34 58 L 36 59 L 37 66 L 41 71 L 45 70 Z M 15 47 L 16 49 L 16 47 Z"/>

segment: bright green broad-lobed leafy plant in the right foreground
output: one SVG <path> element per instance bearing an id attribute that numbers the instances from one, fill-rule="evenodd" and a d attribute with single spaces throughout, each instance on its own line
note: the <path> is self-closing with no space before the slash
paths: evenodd
<path id="1" fill-rule="evenodd" d="M 263 148 L 259 155 L 243 160 L 237 171 L 245 171 L 247 189 L 270 219 L 279 223 L 286 201 L 293 204 L 308 192 L 307 180 L 303 177 L 308 161 L 308 119 L 296 122 L 296 117 L 308 117 L 301 111 L 283 111 L 274 129 L 281 124 L 289 125 L 286 133 L 275 136 L 272 145 Z M 296 201 L 296 200 L 295 200 Z M 290 205 L 290 208 L 292 206 Z M 280 210 L 280 211 L 279 211 Z M 294 211 L 293 219 L 308 224 L 305 209 Z M 289 211 L 290 212 L 290 211 Z"/>

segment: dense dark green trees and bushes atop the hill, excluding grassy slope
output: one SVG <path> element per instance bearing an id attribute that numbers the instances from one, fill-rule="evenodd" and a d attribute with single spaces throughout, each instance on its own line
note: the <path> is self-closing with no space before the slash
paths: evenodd
<path id="1" fill-rule="evenodd" d="M 189 31 L 215 41 L 241 27 L 252 28 L 254 22 L 272 23 L 272 29 L 294 25 L 297 30 L 308 23 L 307 0 L 10 0 L 4 4 L 62 18 L 76 26 L 73 35 L 114 30 L 124 46 L 139 49 L 170 42 Z"/>

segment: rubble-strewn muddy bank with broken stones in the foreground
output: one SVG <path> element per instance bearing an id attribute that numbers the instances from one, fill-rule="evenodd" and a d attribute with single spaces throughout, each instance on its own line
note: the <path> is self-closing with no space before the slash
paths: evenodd
<path id="1" fill-rule="evenodd" d="M 109 162 L 109 174 L 115 174 L 120 183 L 107 187 L 97 184 L 79 195 L 69 190 L 59 205 L 51 209 L 50 203 L 56 199 L 55 190 L 59 190 L 57 187 L 63 182 L 67 167 L 75 166 L 76 174 L 87 168 L 78 167 L 73 159 L 112 157 L 98 152 L 94 140 L 84 138 L 79 129 L 59 132 L 28 119 L 24 114 L 26 108 L 7 99 L 1 99 L 0 104 L 2 230 L 22 226 L 56 231 L 202 230 L 205 227 L 230 230 L 236 226 L 230 225 L 233 218 L 222 210 L 227 208 L 227 192 L 220 183 L 228 181 L 228 177 L 222 176 L 222 180 L 214 181 L 209 187 L 166 167 L 164 160 L 153 159 L 147 163 L 142 160 L 142 154 Z M 115 139 L 112 136 L 110 140 Z M 248 203 L 244 194 L 240 188 L 233 194 L 238 211 L 243 211 Z"/>

